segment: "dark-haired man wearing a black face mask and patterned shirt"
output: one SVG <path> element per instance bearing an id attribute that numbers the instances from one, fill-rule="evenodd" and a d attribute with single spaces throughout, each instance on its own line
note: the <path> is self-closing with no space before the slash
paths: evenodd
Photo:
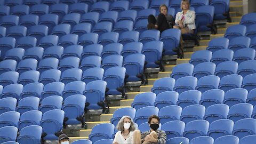
<path id="1" fill-rule="evenodd" d="M 142 143 L 157 143 L 165 144 L 166 142 L 166 133 L 162 130 L 157 130 L 159 127 L 160 119 L 158 116 L 153 115 L 148 118 L 148 124 L 150 127 L 149 131 L 143 132 L 141 134 Z"/>

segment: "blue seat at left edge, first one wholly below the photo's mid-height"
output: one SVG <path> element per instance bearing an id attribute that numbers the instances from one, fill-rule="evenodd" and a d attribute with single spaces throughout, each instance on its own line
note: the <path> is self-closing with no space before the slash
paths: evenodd
<path id="1" fill-rule="evenodd" d="M 5 87 L 10 84 L 17 83 L 19 78 L 19 73 L 16 71 L 7 71 L 0 75 L 0 84 Z"/>

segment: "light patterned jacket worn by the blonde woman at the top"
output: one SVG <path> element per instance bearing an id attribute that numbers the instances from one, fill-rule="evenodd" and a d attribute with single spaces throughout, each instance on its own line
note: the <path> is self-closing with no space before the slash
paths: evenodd
<path id="1" fill-rule="evenodd" d="M 178 23 L 182 19 L 182 15 L 183 15 L 183 11 L 178 12 L 176 14 L 175 23 Z M 187 26 L 188 29 L 195 29 L 196 28 L 196 24 L 195 24 L 196 14 L 195 14 L 195 11 L 188 10 L 184 14 L 184 16 L 185 17 L 184 17 L 184 20 L 183 20 L 183 25 Z"/>

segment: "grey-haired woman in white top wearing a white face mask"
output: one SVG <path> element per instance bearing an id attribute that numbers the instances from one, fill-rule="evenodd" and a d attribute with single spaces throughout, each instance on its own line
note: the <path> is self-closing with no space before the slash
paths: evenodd
<path id="1" fill-rule="evenodd" d="M 115 135 L 113 144 L 134 143 L 133 131 L 136 128 L 130 116 L 123 116 L 118 122 L 116 129 L 119 131 Z"/>

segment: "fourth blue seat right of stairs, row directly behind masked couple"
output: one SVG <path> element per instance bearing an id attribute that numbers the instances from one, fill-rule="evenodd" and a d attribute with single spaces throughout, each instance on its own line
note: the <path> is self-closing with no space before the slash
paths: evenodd
<path id="1" fill-rule="evenodd" d="M 180 121 L 188 124 L 197 119 L 203 119 L 205 114 L 205 107 L 202 105 L 190 105 L 182 109 Z"/>

